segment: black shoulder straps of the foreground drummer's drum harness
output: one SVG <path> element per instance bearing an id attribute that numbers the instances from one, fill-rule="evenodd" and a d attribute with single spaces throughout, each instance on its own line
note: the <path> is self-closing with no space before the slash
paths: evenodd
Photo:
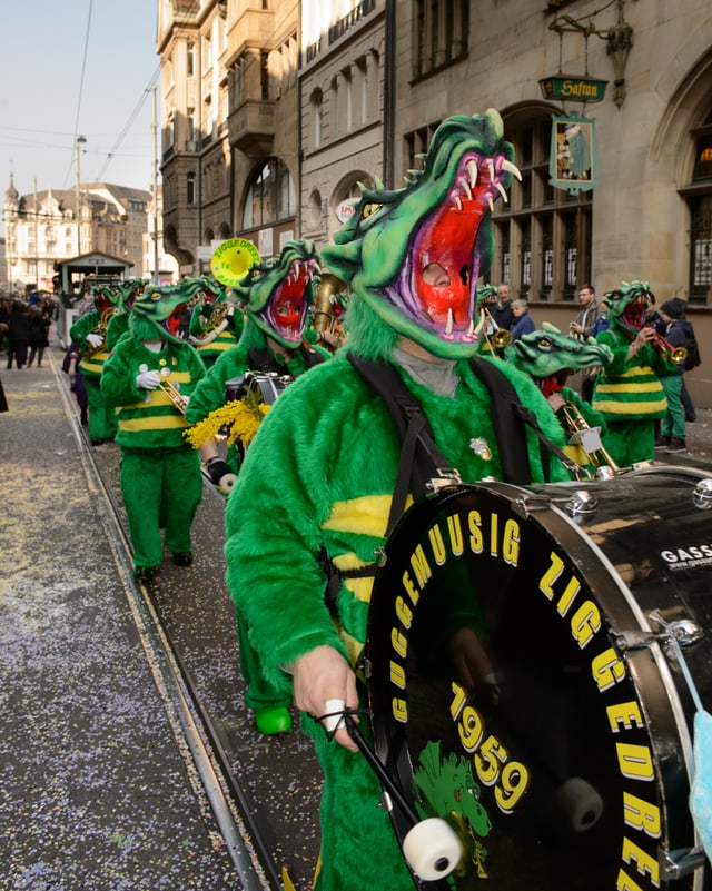
<path id="1" fill-rule="evenodd" d="M 384 400 L 402 442 L 396 485 L 386 527 L 386 537 L 388 537 L 405 511 L 408 492 L 412 492 L 413 497 L 417 498 L 433 492 L 439 485 L 462 481 L 458 472 L 449 466 L 435 444 L 435 437 L 423 406 L 407 388 L 395 366 L 383 359 L 365 359 L 353 353 L 348 354 L 348 359 L 362 378 Z M 532 482 L 526 427 L 532 429 L 540 440 L 545 482 L 548 483 L 551 479 L 550 453 L 556 455 L 577 478 L 581 467 L 546 436 L 534 412 L 522 404 L 510 378 L 493 363 L 478 356 L 473 356 L 469 365 L 490 392 L 492 419 L 504 482 L 513 485 L 527 485 Z M 324 597 L 333 615 L 336 615 L 336 596 L 342 581 L 374 576 L 377 568 L 374 562 L 355 570 L 337 570 L 326 555 L 325 548 L 322 550 L 319 562 L 327 574 Z"/>

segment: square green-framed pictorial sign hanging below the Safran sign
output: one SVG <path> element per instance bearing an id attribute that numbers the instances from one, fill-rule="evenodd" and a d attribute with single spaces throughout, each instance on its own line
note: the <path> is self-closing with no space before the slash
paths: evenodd
<path id="1" fill-rule="evenodd" d="M 548 175 L 554 188 L 575 194 L 599 185 L 595 123 L 575 112 L 552 116 Z"/>

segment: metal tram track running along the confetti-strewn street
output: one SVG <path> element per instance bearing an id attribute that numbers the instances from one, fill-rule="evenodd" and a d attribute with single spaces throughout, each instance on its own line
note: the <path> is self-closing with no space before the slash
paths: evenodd
<path id="1" fill-rule="evenodd" d="M 122 512 L 87 444 L 53 357 L 51 365 L 87 486 L 96 498 L 147 664 L 166 705 L 194 791 L 207 802 L 215 818 L 235 867 L 237 887 L 244 891 L 281 889 L 268 821 L 233 770 L 229 745 L 201 702 L 191 673 L 161 617 L 151 586 L 134 577 L 130 538 Z"/>

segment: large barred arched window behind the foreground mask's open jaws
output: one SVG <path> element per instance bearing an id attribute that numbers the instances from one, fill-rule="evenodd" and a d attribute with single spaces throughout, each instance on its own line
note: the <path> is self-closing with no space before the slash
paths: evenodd
<path id="1" fill-rule="evenodd" d="M 510 201 L 495 204 L 495 255 L 488 279 L 511 285 L 513 296 L 571 300 L 591 279 L 591 191 L 571 195 L 548 185 L 551 117 L 505 122 L 522 182 Z"/>

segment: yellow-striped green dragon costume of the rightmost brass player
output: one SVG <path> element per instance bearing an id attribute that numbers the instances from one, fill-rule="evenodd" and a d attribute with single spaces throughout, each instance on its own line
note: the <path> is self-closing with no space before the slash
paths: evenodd
<path id="1" fill-rule="evenodd" d="M 613 358 L 596 378 L 592 405 L 606 419 L 606 447 L 620 467 L 655 457 L 655 420 L 668 409 L 661 377 L 675 370 L 650 344 L 627 357 L 645 324 L 649 294 L 647 281 L 623 281 L 605 294 L 610 328 L 596 335 Z"/>

